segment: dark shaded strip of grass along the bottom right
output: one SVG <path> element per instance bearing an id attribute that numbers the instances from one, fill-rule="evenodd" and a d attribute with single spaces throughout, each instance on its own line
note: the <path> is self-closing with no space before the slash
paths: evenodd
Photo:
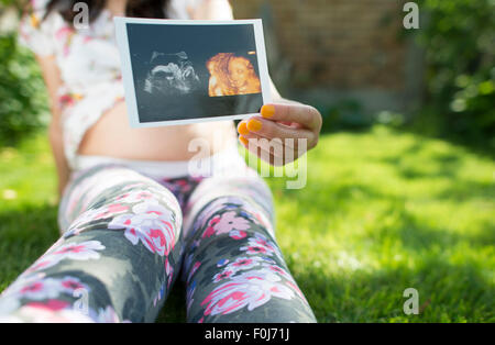
<path id="1" fill-rule="evenodd" d="M 328 263 L 332 266 L 337 263 Z M 494 287 L 470 264 L 428 257 L 414 267 L 323 274 L 296 279 L 319 322 L 493 322 Z M 419 314 L 406 315 L 404 290 L 419 293 Z"/>

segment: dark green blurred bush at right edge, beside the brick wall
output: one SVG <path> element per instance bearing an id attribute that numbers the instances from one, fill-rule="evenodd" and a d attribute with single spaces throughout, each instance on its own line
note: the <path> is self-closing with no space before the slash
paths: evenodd
<path id="1" fill-rule="evenodd" d="M 427 19 L 414 32 L 426 53 L 429 111 L 418 121 L 493 146 L 495 1 L 421 0 L 419 7 Z"/>

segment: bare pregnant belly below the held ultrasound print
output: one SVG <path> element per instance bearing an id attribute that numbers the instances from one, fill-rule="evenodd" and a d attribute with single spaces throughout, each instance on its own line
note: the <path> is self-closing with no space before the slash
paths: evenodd
<path id="1" fill-rule="evenodd" d="M 144 160 L 187 160 L 212 155 L 235 140 L 232 121 L 131 129 L 124 102 L 105 113 L 85 134 L 78 154 Z M 189 147 L 191 147 L 189 149 Z"/>

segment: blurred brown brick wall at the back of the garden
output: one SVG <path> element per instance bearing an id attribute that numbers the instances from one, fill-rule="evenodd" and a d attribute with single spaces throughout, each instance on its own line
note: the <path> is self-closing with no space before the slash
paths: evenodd
<path id="1" fill-rule="evenodd" d="M 268 19 L 265 26 L 273 27 L 277 51 L 290 63 L 292 87 L 389 90 L 396 94 L 407 85 L 407 46 L 399 37 L 405 13 L 399 0 L 231 3 L 237 19 Z M 273 44 L 268 37 L 266 41 Z"/>

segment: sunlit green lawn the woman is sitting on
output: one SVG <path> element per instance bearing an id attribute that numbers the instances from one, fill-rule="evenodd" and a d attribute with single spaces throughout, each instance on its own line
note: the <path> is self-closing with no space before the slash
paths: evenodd
<path id="1" fill-rule="evenodd" d="M 270 178 L 277 238 L 319 322 L 494 322 L 495 164 L 375 126 L 328 134 L 300 190 Z M 42 134 L 0 149 L 0 289 L 57 238 Z M 403 291 L 419 292 L 406 315 Z M 158 321 L 184 321 L 178 285 Z"/>

